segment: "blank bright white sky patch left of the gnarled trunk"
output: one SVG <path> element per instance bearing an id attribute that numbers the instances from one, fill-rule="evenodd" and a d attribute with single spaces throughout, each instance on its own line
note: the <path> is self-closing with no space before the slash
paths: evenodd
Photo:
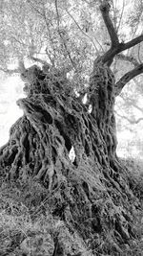
<path id="1" fill-rule="evenodd" d="M 23 115 L 16 101 L 24 98 L 23 81 L 18 76 L 12 76 L 0 81 L 0 146 L 9 140 L 9 130 L 12 124 Z"/>

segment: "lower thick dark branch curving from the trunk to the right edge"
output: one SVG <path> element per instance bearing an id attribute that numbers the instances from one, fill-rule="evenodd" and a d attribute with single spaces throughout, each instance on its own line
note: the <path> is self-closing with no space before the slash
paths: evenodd
<path id="1" fill-rule="evenodd" d="M 126 73 L 119 81 L 115 83 L 115 96 L 118 96 L 128 81 L 143 73 L 143 63 Z"/>

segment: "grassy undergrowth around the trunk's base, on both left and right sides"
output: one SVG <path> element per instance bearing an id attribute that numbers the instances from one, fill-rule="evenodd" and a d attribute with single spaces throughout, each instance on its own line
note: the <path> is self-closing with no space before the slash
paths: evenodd
<path id="1" fill-rule="evenodd" d="M 128 168 L 129 185 L 134 195 L 143 200 L 143 164 L 136 163 L 133 159 L 122 159 Z M 47 190 L 37 181 L 29 180 L 27 184 L 8 183 L 1 180 L 0 184 L 0 255 L 1 256 L 59 256 L 62 251 L 55 251 L 57 232 L 63 234 L 61 241 L 65 248 L 71 241 L 75 246 L 74 256 L 107 255 L 104 248 L 112 243 L 112 234 L 106 234 L 107 239 L 99 246 L 103 253 L 98 254 L 91 250 L 91 241 L 83 242 L 76 233 L 70 233 L 64 221 L 53 219 L 51 202 L 47 197 Z M 136 213 L 136 212 L 135 212 Z M 143 213 L 139 211 L 134 216 L 134 225 L 138 230 L 139 238 L 124 246 L 124 253 L 108 255 L 143 255 Z M 113 232 L 113 230 L 112 230 Z M 96 238 L 97 239 L 97 238 Z M 76 253 L 78 251 L 81 253 Z M 41 249 L 42 248 L 42 249 Z M 87 249 L 86 249 L 87 248 Z M 66 250 L 65 250 L 66 251 Z M 101 249 L 100 249 L 101 251 Z M 66 254 L 64 254 L 66 255 Z M 67 253 L 68 255 L 68 253 Z M 66 255 L 66 256 L 67 256 Z M 71 254 L 69 254 L 71 255 Z M 73 255 L 73 254 L 72 254 Z"/>

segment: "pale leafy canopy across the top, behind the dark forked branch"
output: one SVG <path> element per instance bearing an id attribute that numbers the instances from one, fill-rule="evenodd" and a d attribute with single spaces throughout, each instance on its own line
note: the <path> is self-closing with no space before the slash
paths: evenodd
<path id="1" fill-rule="evenodd" d="M 131 3 L 134 12 L 134 6 L 137 7 L 134 1 Z M 110 47 L 99 4 L 93 0 L 2 0 L 1 69 L 7 70 L 19 58 L 41 58 L 57 67 L 71 67 L 85 77 L 93 59 Z M 131 39 L 141 13 L 137 9 L 135 20 L 128 12 L 129 1 L 114 0 L 110 4 L 119 39 Z"/>

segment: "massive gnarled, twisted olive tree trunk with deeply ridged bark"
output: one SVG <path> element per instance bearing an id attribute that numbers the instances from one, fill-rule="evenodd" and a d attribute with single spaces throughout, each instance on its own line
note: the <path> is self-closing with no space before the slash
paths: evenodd
<path id="1" fill-rule="evenodd" d="M 18 101 L 24 116 L 1 148 L 1 175 L 23 183 L 32 177 L 47 189 L 52 217 L 76 232 L 87 250 L 79 248 L 76 255 L 123 255 L 124 244 L 136 236 L 132 203 L 139 202 L 116 157 L 112 71 L 101 62 L 94 65 L 87 105 L 66 79 L 51 80 L 35 66 L 26 77 L 28 97 Z M 75 255 L 74 239 L 68 251 L 58 234 L 54 252 L 62 252 L 52 255 Z"/>

